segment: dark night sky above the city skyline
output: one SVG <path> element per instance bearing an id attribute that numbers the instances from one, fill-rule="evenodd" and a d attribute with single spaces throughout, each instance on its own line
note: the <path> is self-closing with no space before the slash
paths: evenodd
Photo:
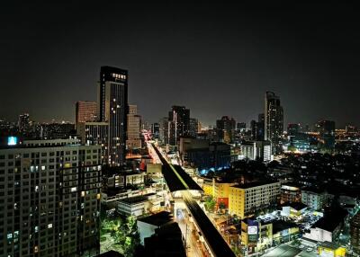
<path id="1" fill-rule="evenodd" d="M 26 2 L 0 7 L 0 117 L 74 121 L 108 65 L 129 70 L 129 102 L 150 122 L 178 104 L 248 126 L 275 91 L 285 124 L 360 126 L 355 6 Z"/>

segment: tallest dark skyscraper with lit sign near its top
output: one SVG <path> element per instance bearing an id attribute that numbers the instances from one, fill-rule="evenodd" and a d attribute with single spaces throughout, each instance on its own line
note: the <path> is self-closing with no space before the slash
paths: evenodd
<path id="1" fill-rule="evenodd" d="M 100 70 L 98 110 L 100 121 L 109 124 L 107 163 L 125 163 L 128 106 L 128 71 L 112 66 Z"/>

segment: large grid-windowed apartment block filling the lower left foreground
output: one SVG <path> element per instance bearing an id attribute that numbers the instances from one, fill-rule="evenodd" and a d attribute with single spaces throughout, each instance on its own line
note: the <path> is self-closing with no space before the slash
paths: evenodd
<path id="1" fill-rule="evenodd" d="M 31 140 L 0 149 L 0 256 L 93 256 L 100 146 Z"/>

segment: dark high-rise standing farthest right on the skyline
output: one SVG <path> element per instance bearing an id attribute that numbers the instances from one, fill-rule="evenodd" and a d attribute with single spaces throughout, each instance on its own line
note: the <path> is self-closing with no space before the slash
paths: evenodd
<path id="1" fill-rule="evenodd" d="M 319 132 L 320 145 L 325 150 L 331 150 L 335 146 L 335 121 L 320 120 L 316 124 Z"/>

